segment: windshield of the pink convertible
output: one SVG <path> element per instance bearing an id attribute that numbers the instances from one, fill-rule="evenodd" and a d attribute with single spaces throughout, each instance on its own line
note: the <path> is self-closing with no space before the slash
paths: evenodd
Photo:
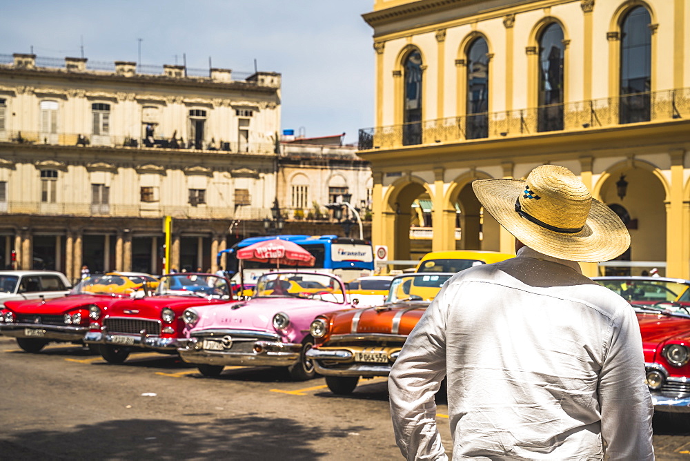
<path id="1" fill-rule="evenodd" d="M 257 280 L 255 297 L 300 297 L 342 303 L 345 299 L 339 280 L 328 274 L 266 273 Z"/>

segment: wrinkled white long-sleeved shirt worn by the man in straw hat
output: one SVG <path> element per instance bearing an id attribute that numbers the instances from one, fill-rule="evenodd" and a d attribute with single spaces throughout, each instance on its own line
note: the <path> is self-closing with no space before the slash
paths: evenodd
<path id="1" fill-rule="evenodd" d="M 446 282 L 388 379 L 408 460 L 446 460 L 444 375 L 455 460 L 654 458 L 635 313 L 576 262 L 523 247 Z"/>

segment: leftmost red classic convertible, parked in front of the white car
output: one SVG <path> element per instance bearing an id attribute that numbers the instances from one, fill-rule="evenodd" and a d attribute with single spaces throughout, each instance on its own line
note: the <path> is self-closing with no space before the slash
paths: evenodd
<path id="1" fill-rule="evenodd" d="M 121 287 L 137 284 L 141 286 L 138 280 L 121 275 L 92 275 L 64 292 L 66 296 L 8 301 L 0 310 L 0 333 L 16 337 L 19 347 L 30 353 L 41 351 L 49 342 L 81 344 L 89 328 L 99 328 L 108 307 L 135 293 Z"/>

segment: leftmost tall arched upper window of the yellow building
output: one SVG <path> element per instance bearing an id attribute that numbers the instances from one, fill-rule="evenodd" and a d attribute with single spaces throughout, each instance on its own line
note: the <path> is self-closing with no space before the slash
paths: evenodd
<path id="1" fill-rule="evenodd" d="M 422 55 L 411 52 L 404 61 L 404 108 L 402 144 L 422 144 Z"/>

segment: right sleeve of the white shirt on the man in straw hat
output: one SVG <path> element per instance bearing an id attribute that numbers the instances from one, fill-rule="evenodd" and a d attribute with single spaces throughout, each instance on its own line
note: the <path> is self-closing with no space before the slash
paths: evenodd
<path id="1" fill-rule="evenodd" d="M 644 384 L 640 325 L 629 304 L 611 322 L 611 340 L 600 375 L 602 438 L 610 460 L 653 460 L 654 407 Z"/>

